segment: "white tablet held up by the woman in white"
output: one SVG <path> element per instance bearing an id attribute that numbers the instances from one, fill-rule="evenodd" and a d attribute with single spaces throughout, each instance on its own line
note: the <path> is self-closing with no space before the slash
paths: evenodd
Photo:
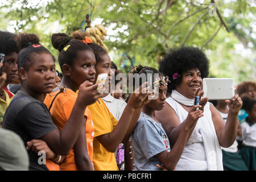
<path id="1" fill-rule="evenodd" d="M 228 100 L 234 97 L 234 78 L 204 78 L 204 96 L 209 100 Z"/>

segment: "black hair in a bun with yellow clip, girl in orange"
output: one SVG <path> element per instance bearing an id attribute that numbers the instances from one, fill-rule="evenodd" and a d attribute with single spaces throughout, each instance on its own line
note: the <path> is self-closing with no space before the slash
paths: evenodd
<path id="1" fill-rule="evenodd" d="M 82 40 L 82 39 L 81 39 Z M 63 72 L 63 65 L 73 65 L 73 60 L 77 58 L 80 51 L 92 51 L 88 44 L 68 36 L 64 33 L 52 34 L 52 46 L 59 50 L 59 64 Z"/>

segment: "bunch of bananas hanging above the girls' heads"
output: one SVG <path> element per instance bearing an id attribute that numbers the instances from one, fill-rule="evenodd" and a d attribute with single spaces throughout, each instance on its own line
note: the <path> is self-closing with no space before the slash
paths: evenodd
<path id="1" fill-rule="evenodd" d="M 95 27 L 87 27 L 85 30 L 87 35 L 90 35 L 90 39 L 92 39 L 93 43 L 96 43 L 103 47 L 106 52 L 109 52 L 108 47 L 104 44 L 103 40 L 106 36 L 106 28 L 102 24 L 96 24 Z"/>

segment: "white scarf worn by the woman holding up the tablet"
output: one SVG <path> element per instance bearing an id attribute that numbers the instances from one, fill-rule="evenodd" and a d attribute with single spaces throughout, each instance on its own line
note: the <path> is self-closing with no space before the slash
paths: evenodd
<path id="1" fill-rule="evenodd" d="M 181 95 L 177 90 L 172 90 L 171 97 L 185 106 L 193 106 L 194 100 Z M 204 142 L 205 154 L 207 155 L 208 170 L 223 171 L 222 151 L 218 142 L 215 127 L 212 121 L 210 109 L 204 109 L 204 119 L 199 119 L 197 125 L 201 128 L 201 135 Z"/>

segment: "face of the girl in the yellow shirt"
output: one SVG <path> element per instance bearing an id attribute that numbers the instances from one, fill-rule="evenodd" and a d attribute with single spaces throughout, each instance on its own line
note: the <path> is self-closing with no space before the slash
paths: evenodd
<path id="1" fill-rule="evenodd" d="M 108 54 L 101 55 L 100 63 L 96 64 L 96 78 L 100 73 L 107 73 L 109 76 L 109 84 L 110 84 L 110 76 L 112 75 L 113 71 L 111 67 L 111 59 Z"/>

